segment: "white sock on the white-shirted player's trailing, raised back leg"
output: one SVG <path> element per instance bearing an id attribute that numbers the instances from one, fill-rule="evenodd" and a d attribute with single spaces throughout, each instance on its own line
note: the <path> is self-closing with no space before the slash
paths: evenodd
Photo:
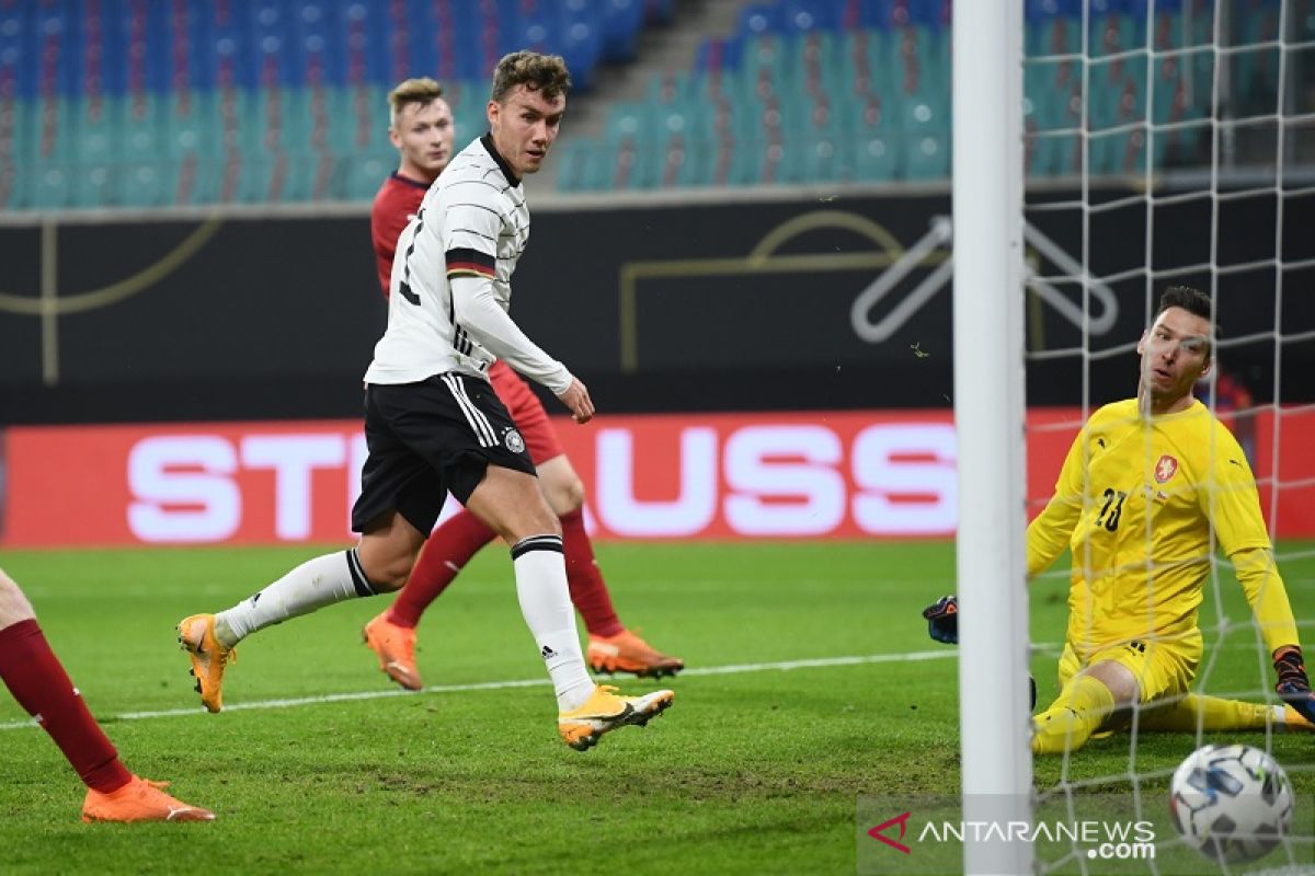
<path id="1" fill-rule="evenodd" d="M 373 596 L 356 549 L 338 550 L 301 563 L 250 599 L 214 616 L 214 636 L 233 647 L 243 638 L 289 617 L 345 599 Z"/>

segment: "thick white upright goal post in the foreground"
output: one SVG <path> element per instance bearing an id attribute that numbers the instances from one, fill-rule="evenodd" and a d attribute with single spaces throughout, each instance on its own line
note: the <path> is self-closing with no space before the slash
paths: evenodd
<path id="1" fill-rule="evenodd" d="M 1022 0 L 953 8 L 953 332 L 964 821 L 1031 821 L 1023 550 Z M 1030 873 L 1026 842 L 968 839 L 965 873 Z"/>

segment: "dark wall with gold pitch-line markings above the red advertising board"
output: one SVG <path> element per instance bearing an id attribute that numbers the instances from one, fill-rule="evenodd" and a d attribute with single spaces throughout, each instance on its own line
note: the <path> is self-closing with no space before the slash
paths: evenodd
<path id="1" fill-rule="evenodd" d="M 1081 403 L 1084 385 L 1093 402 L 1131 394 L 1135 361 L 1118 351 L 1136 340 L 1151 293 L 1169 282 L 1148 284 L 1148 264 L 1181 269 L 1173 281 L 1218 284 L 1222 361 L 1258 399 L 1276 386 L 1285 401 L 1315 397 L 1315 339 L 1301 338 L 1315 332 L 1315 269 L 1274 263 L 1279 242 L 1285 263 L 1315 259 L 1315 197 L 1285 198 L 1279 236 L 1273 194 L 1223 201 L 1218 219 L 1206 198 L 1101 206 L 1130 194 L 1097 192 L 1085 214 L 1028 211 L 1074 259 L 1086 251 L 1094 274 L 1118 274 L 1110 298 L 1090 298 L 1093 318 L 1114 302 L 1111 324 L 1086 335 L 1094 357 L 1030 362 L 1030 403 Z M 944 407 L 949 285 L 911 302 L 945 248 L 860 314 L 868 324 L 889 319 L 880 343 L 860 338 L 852 310 L 948 213 L 943 194 L 540 210 L 513 315 L 604 410 Z M 164 273 L 160 260 L 192 235 L 204 242 Z M 64 223 L 55 242 L 55 302 L 42 318 L 28 313 L 42 289 L 41 231 L 0 229 L 0 422 L 359 412 L 360 374 L 385 318 L 363 215 Z M 1057 278 L 1063 265 L 1030 251 L 1081 307 L 1081 286 Z M 1224 268 L 1216 277 L 1202 269 L 1211 260 Z M 1036 296 L 1027 319 L 1031 351 L 1084 348 L 1080 328 Z M 1279 326 L 1293 339 L 1276 341 Z"/>

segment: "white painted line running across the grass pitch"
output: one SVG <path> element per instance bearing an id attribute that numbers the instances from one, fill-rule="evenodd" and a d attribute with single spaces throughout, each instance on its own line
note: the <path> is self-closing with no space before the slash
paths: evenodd
<path id="1" fill-rule="evenodd" d="M 777 661 L 773 663 L 735 663 L 731 666 L 705 666 L 702 668 L 689 668 L 681 672 L 686 675 L 739 675 L 743 672 L 765 672 L 768 670 L 802 670 L 828 666 L 860 666 L 864 663 L 906 663 L 914 661 L 936 661 L 957 655 L 957 649 L 943 649 L 939 651 L 911 651 L 909 654 L 867 654 L 859 657 L 819 657 L 805 661 Z M 460 693 L 463 691 L 505 691 L 513 687 L 546 687 L 551 682 L 546 678 L 513 679 L 508 682 L 476 682 L 473 684 L 434 684 L 416 693 Z M 230 703 L 224 707 L 225 712 L 243 712 L 247 709 L 292 709 L 301 705 L 318 705 L 321 703 L 350 703 L 354 700 L 380 700 L 389 696 L 414 696 L 412 691 L 356 691 L 354 693 L 325 693 L 323 696 L 299 696 L 285 700 L 255 700 L 251 703 Z M 172 718 L 183 714 L 204 714 L 199 707 L 188 709 L 160 709 L 156 712 L 124 712 L 122 714 L 105 716 L 109 721 L 141 721 L 145 718 Z M 11 721 L 0 724 L 0 730 L 21 730 L 37 726 L 36 721 Z"/>

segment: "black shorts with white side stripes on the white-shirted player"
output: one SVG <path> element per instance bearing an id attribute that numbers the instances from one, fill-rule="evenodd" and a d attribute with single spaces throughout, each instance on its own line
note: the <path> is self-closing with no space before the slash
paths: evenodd
<path id="1" fill-rule="evenodd" d="M 366 386 L 366 447 L 351 528 L 397 511 L 429 536 L 451 490 L 471 498 L 489 465 L 534 474 L 525 440 L 488 381 L 448 372 Z"/>

